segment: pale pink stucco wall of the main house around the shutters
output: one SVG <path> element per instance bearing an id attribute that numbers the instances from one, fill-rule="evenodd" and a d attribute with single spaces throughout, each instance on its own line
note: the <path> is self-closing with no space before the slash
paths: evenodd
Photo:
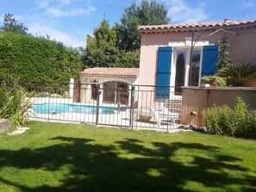
<path id="1" fill-rule="evenodd" d="M 214 35 L 207 36 L 211 33 L 209 32 L 202 35 L 198 40 L 208 40 L 209 44 L 217 44 L 218 40 L 220 40 L 222 36 L 226 35 L 230 43 L 229 54 L 234 63 L 250 62 L 256 64 L 255 29 L 250 28 L 232 32 L 238 34 L 219 32 Z M 195 39 L 197 39 L 198 34 L 195 34 Z M 159 46 L 167 46 L 170 41 L 185 41 L 185 37 L 191 37 L 191 33 L 141 34 L 140 85 L 155 84 Z"/>

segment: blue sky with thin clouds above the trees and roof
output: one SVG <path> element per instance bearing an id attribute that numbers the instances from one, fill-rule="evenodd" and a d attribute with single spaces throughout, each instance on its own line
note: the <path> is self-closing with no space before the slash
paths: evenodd
<path id="1" fill-rule="evenodd" d="M 256 20 L 256 0 L 158 0 L 165 3 L 172 23 L 218 22 L 224 18 Z M 0 0 L 0 25 L 11 13 L 31 34 L 49 34 L 66 46 L 85 46 L 103 18 L 112 26 L 123 10 L 140 0 Z"/>

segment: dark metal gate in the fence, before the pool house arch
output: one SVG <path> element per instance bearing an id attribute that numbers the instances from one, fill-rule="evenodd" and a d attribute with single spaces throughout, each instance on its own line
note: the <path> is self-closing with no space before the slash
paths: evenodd
<path id="1" fill-rule="evenodd" d="M 119 82 L 97 84 L 96 125 L 131 127 L 133 103 L 132 85 Z"/>

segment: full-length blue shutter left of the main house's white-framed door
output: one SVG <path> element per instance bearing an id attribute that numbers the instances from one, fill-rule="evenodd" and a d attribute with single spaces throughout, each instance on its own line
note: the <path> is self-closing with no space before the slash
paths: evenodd
<path id="1" fill-rule="evenodd" d="M 170 98 L 172 46 L 159 47 L 156 74 L 156 98 Z"/>

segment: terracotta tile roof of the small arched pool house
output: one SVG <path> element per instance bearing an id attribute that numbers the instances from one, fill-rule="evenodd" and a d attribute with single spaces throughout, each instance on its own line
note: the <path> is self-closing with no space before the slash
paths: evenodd
<path id="1" fill-rule="evenodd" d="M 95 67 L 85 69 L 80 74 L 97 77 L 138 77 L 139 68 L 106 68 Z"/>

